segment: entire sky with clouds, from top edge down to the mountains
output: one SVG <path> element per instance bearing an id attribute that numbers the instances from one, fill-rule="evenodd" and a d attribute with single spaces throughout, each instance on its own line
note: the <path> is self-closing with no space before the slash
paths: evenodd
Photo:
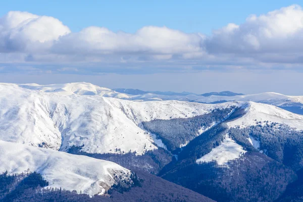
<path id="1" fill-rule="evenodd" d="M 0 82 L 303 95 L 303 1 L 7 1 Z"/>

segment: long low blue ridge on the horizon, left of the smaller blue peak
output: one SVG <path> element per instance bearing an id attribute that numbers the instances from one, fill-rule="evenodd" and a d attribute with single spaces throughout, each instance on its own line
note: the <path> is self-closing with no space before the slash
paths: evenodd
<path id="1" fill-rule="evenodd" d="M 147 94 L 147 93 L 152 93 L 152 94 L 158 94 L 158 95 L 189 95 L 189 94 L 194 94 L 191 92 L 173 92 L 173 91 L 143 91 L 139 89 L 132 89 L 132 88 L 114 88 L 113 89 L 116 92 L 121 92 L 121 93 L 126 93 L 126 94 L 131 94 L 131 95 L 142 95 L 142 94 Z"/>

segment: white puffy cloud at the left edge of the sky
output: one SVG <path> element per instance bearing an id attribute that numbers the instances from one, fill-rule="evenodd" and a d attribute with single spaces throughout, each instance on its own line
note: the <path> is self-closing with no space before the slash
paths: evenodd
<path id="1" fill-rule="evenodd" d="M 48 49 L 70 32 L 56 18 L 12 11 L 0 19 L 0 51 L 33 52 Z"/>

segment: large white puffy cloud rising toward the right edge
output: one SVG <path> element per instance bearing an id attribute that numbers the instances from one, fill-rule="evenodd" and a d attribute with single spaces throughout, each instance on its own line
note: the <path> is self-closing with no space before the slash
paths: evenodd
<path id="1" fill-rule="evenodd" d="M 210 54 L 302 53 L 303 11 L 297 5 L 251 15 L 241 25 L 229 24 L 205 41 Z"/>

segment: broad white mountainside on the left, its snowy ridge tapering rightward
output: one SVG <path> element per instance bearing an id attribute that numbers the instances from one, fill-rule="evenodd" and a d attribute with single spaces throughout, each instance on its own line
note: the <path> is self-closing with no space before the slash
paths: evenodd
<path id="1" fill-rule="evenodd" d="M 83 145 L 88 153 L 142 154 L 157 148 L 140 128 L 143 121 L 188 118 L 221 107 L 174 100 L 133 102 L 16 84 L 1 84 L 0 90 L 0 139 L 62 151 Z M 222 107 L 230 105 L 235 104 Z"/>

